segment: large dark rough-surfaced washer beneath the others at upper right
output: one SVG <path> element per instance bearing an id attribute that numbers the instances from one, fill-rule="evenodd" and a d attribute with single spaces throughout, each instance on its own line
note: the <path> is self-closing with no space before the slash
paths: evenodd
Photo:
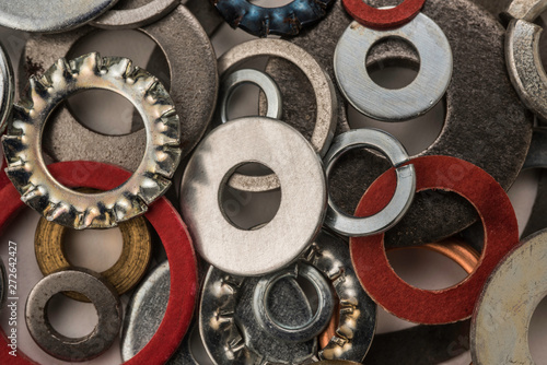
<path id="1" fill-rule="evenodd" d="M 371 1 L 371 4 L 377 2 Z M 422 12 L 446 35 L 454 57 L 454 71 L 445 96 L 443 130 L 437 141 L 419 155 L 450 155 L 466 160 L 486 169 L 504 189 L 509 189 L 526 156 L 533 116 L 520 103 L 507 74 L 504 30 L 491 14 L 466 0 L 428 0 Z M 321 23 L 291 42 L 314 56 L 333 76 L 333 55 L 351 21 L 341 5 L 335 3 Z M 368 63 L 374 66 L 389 59 L 405 66 L 418 64 L 417 55 L 394 40 L 373 49 Z M 310 108 L 302 105 L 302 95 L 306 94 L 302 94 L 304 91 L 296 81 L 293 66 L 271 59 L 266 72 L 276 80 L 284 96 L 284 121 L 292 125 L 306 116 L 314 117 Z M 263 103 L 264 99 L 260 113 L 265 110 Z M 388 162 L 375 154 L 365 151 L 348 153 L 330 175 L 333 200 L 346 212 L 353 212 L 366 187 L 388 167 Z M 452 174 L 457 175 L 457 172 Z M 438 242 L 476 220 L 475 209 L 454 193 L 420 192 L 405 217 L 387 233 L 386 246 Z"/>

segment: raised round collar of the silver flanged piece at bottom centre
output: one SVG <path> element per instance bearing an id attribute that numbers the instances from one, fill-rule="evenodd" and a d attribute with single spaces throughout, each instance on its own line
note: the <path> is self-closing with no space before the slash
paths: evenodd
<path id="1" fill-rule="evenodd" d="M 313 318 L 305 325 L 288 327 L 271 317 L 268 309 L 268 295 L 271 286 L 283 278 L 305 278 L 317 292 L 317 309 Z M 333 317 L 335 302 L 333 290 L 326 279 L 309 264 L 296 264 L 295 268 L 278 271 L 261 278 L 256 284 L 253 296 L 253 311 L 258 323 L 271 335 L 282 341 L 302 342 L 317 337 Z"/>

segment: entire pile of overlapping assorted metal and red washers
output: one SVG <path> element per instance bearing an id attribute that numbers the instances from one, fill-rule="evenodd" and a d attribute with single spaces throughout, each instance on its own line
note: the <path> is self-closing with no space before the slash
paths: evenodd
<path id="1" fill-rule="evenodd" d="M 21 298 L 21 318 L 55 364 L 100 364 L 118 338 L 124 364 L 438 364 L 461 354 L 455 343 L 475 365 L 534 364 L 547 175 L 523 239 L 505 191 L 521 170 L 547 168 L 547 0 L 116 2 L 0 3 L 0 26 L 24 36 L 16 75 L 0 47 L 0 229 L 25 205 L 42 215 L 33 264 L 44 278 Z M 223 22 L 255 38 L 217 58 L 210 37 Z M 74 55 L 97 28 L 138 28 L 163 51 L 167 76 L 125 55 Z M 265 68 L 249 68 L 260 57 Z M 381 86 L 371 74 L 392 64 L 417 75 Z M 230 118 L 245 84 L 261 90 L 258 115 Z M 83 127 L 65 102 L 90 90 L 128 99 L 144 128 Z M 404 122 L 439 104 L 442 131 L 414 156 L 348 121 L 354 109 Z M 271 220 L 242 227 L 226 189 L 240 205 L 281 191 L 279 208 L 265 202 Z M 68 229 L 114 227 L 123 249 L 112 268 L 70 262 Z M 439 252 L 468 276 L 412 286 L 387 259 L 404 248 Z M 8 252 L 2 315 L 16 292 Z M 51 326 L 59 293 L 94 304 L 91 333 Z M 375 335 L 377 306 L 420 326 Z M 37 364 L 14 355 L 5 328 L 0 364 Z"/>

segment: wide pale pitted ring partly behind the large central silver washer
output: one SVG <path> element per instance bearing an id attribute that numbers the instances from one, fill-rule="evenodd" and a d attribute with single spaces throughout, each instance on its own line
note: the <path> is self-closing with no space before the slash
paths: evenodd
<path id="1" fill-rule="evenodd" d="M 304 72 L 312 83 L 317 103 L 317 118 L 311 143 L 319 155 L 325 155 L 334 137 L 338 114 L 338 101 L 330 78 L 309 52 L 280 39 L 251 40 L 231 48 L 219 58 L 219 74 L 222 76 L 241 62 L 260 56 L 279 57 L 291 61 Z M 279 189 L 279 180 L 275 175 L 245 176 L 234 174 L 230 178 L 229 185 L 243 191 Z"/>

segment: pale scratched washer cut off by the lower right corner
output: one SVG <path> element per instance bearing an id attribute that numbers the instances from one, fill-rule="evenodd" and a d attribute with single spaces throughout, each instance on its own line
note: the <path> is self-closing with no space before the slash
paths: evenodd
<path id="1" fill-rule="evenodd" d="M 547 294 L 547 231 L 529 236 L 491 273 L 473 315 L 470 344 L 476 365 L 535 364 L 528 327 Z"/>

